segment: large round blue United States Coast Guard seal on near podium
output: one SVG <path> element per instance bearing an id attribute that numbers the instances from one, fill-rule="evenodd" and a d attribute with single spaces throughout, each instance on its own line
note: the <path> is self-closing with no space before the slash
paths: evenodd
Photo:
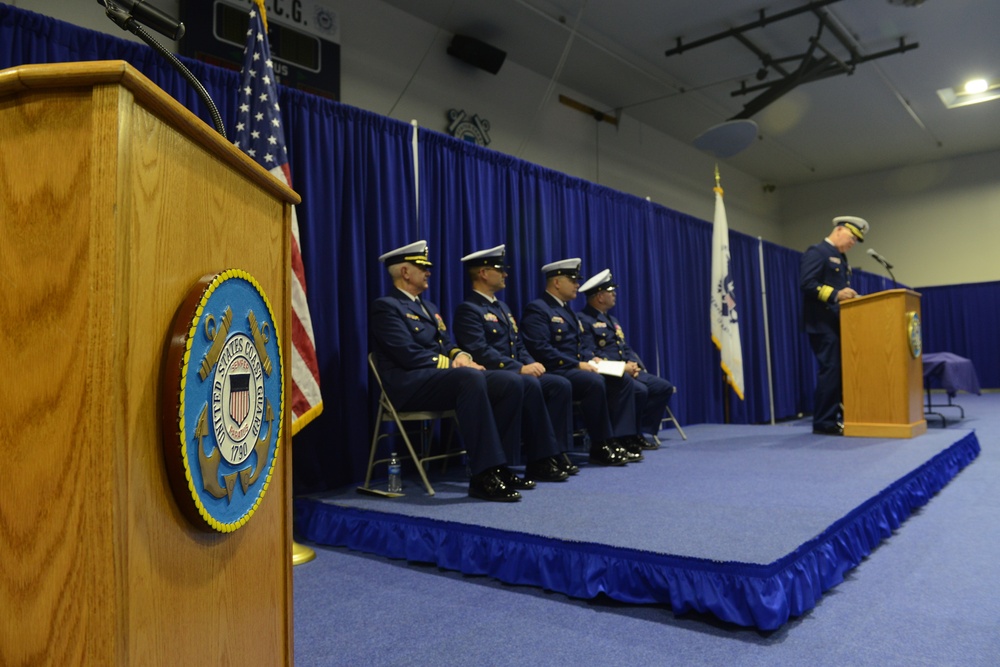
<path id="1" fill-rule="evenodd" d="M 252 276 L 205 276 L 174 320 L 163 451 L 174 496 L 197 526 L 230 533 L 260 505 L 281 442 L 284 379 L 274 313 Z"/>

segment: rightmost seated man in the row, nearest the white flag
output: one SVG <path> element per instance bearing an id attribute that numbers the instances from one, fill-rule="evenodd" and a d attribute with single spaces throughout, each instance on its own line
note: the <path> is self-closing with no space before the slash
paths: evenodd
<path id="1" fill-rule="evenodd" d="M 624 361 L 626 374 L 635 382 L 635 409 L 642 433 L 656 435 L 664 408 L 674 393 L 674 385 L 658 375 L 646 372 L 642 359 L 625 342 L 622 325 L 609 312 L 618 298 L 618 285 L 611 278 L 611 270 L 604 269 L 585 282 L 580 291 L 587 297 L 587 306 L 577 313 L 583 328 L 590 336 L 587 342 L 594 354 L 602 359 Z M 656 449 L 658 445 L 642 439 L 643 449 Z"/>

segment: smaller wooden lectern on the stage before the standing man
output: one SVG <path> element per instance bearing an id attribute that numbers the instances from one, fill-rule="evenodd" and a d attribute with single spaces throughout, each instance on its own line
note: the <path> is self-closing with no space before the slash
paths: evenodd
<path id="1" fill-rule="evenodd" d="M 907 289 L 840 304 L 844 435 L 912 438 L 927 431 L 923 363 L 913 354 L 920 353 L 919 317 L 920 295 Z"/>

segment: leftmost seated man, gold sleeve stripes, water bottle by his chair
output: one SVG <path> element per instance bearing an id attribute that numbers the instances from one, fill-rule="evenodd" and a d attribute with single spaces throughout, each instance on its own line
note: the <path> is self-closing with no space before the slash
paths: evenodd
<path id="1" fill-rule="evenodd" d="M 521 384 L 475 363 L 452 343 L 437 307 L 420 299 L 432 266 L 426 242 L 389 251 L 379 261 L 393 289 L 372 303 L 369 325 L 389 400 L 400 410 L 455 410 L 472 472 L 469 495 L 520 500 L 504 446 L 521 440 Z"/>

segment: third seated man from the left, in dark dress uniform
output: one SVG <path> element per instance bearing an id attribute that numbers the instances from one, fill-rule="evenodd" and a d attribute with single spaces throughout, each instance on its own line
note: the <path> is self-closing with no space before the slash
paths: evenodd
<path id="1" fill-rule="evenodd" d="M 565 377 L 580 401 L 583 423 L 590 435 L 590 462 L 620 466 L 642 458 L 626 442 L 636 433 L 635 392 L 631 378 L 601 375 L 583 346 L 583 325 L 569 307 L 580 286 L 580 258 L 542 267 L 545 294 L 528 304 L 521 317 L 521 334 L 528 353 L 549 373 Z"/>

